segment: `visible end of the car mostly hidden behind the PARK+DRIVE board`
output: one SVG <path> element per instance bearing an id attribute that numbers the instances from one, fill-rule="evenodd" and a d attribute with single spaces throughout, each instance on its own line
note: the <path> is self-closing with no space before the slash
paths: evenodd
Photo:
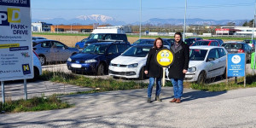
<path id="1" fill-rule="evenodd" d="M 33 69 L 34 69 L 34 78 L 32 80 L 37 80 L 38 77 L 42 74 L 42 66 L 39 61 L 38 54 L 33 50 Z"/>

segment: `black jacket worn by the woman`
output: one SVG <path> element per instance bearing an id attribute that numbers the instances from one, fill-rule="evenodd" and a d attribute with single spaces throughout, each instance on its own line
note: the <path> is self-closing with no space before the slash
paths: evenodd
<path id="1" fill-rule="evenodd" d="M 148 77 L 162 78 L 163 76 L 163 67 L 160 67 L 155 61 L 157 50 L 159 49 L 152 48 L 148 52 L 148 58 L 145 67 L 145 70 L 148 70 Z"/>

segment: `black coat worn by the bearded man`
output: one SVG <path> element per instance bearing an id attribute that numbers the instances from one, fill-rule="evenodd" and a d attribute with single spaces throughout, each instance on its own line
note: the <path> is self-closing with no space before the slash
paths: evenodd
<path id="1" fill-rule="evenodd" d="M 183 69 L 188 70 L 189 68 L 189 45 L 181 41 L 177 49 L 175 49 L 174 44 L 172 44 L 171 49 L 174 52 L 174 61 L 169 68 L 169 78 L 183 79 L 185 77 Z"/>

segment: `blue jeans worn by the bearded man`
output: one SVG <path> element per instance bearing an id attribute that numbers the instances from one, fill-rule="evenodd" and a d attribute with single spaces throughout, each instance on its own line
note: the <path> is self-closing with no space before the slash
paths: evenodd
<path id="1" fill-rule="evenodd" d="M 173 85 L 174 98 L 180 99 L 183 95 L 183 79 L 171 79 Z"/>

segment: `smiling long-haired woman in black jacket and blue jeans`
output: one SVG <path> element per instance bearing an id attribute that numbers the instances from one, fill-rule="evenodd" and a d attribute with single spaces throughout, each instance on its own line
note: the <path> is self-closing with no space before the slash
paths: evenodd
<path id="1" fill-rule="evenodd" d="M 151 102 L 151 94 L 154 85 L 154 80 L 156 79 L 156 91 L 155 100 L 162 102 L 160 100 L 160 90 L 161 90 L 161 78 L 163 74 L 163 68 L 160 67 L 155 61 L 156 52 L 163 47 L 163 40 L 161 38 L 156 38 L 154 40 L 154 47 L 148 52 L 148 58 L 146 62 L 146 67 L 144 73 L 149 77 L 148 84 L 148 103 Z"/>

